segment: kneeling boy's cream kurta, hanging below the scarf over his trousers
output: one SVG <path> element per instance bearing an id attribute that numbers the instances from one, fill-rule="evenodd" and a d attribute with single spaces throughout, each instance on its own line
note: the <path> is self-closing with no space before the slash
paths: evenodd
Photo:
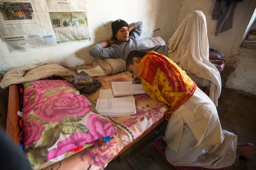
<path id="1" fill-rule="evenodd" d="M 199 88 L 172 114 L 166 127 L 167 144 L 175 151 L 178 151 L 184 123 L 187 123 L 198 141 L 194 147 L 221 144 L 224 139 L 217 109 Z"/>

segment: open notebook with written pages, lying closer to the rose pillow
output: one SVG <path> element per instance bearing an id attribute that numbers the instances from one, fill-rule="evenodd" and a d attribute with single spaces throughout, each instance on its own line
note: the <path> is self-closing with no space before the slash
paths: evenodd
<path id="1" fill-rule="evenodd" d="M 112 90 L 100 90 L 96 110 L 102 116 L 128 116 L 136 114 L 134 96 L 115 97 Z"/>

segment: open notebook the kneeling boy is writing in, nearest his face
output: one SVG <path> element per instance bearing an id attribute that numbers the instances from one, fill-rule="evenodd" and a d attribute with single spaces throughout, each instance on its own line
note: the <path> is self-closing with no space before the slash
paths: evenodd
<path id="1" fill-rule="evenodd" d="M 132 82 L 111 82 L 111 85 L 114 97 L 146 93 L 142 84 L 132 84 Z"/>

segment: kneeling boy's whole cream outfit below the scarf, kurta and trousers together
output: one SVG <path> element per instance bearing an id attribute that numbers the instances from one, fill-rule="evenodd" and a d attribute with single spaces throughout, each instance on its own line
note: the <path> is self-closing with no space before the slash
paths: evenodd
<path id="1" fill-rule="evenodd" d="M 172 114 L 165 139 L 166 159 L 177 166 L 215 169 L 236 159 L 237 136 L 221 129 L 214 103 L 199 88 Z"/>

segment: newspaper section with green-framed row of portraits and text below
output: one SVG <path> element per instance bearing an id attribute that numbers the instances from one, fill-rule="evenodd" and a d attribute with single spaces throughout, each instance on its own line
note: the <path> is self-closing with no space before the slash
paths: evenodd
<path id="1" fill-rule="evenodd" d="M 86 12 L 49 12 L 58 44 L 90 40 Z"/>

